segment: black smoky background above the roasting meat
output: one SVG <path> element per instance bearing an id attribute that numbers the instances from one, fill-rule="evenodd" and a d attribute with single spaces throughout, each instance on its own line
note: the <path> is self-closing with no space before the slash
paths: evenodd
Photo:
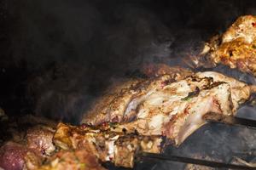
<path id="1" fill-rule="evenodd" d="M 255 1 L 2 0 L 0 107 L 79 122 L 91 100 L 147 63 L 183 65 Z"/>

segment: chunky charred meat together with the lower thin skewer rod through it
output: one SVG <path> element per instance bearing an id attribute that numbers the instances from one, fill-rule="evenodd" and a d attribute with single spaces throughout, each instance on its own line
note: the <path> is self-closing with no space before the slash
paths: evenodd
<path id="1" fill-rule="evenodd" d="M 256 169 L 243 165 L 228 164 L 218 161 L 207 161 L 183 156 L 160 154 L 158 136 L 139 137 L 136 134 L 125 135 L 99 130 L 105 127 L 74 127 L 60 123 L 57 127 L 54 141 L 64 150 L 90 150 L 101 161 L 112 161 L 116 166 L 133 167 L 136 159 L 154 159 L 162 161 L 177 161 L 207 167 L 230 169 Z M 114 137 L 113 137 L 114 135 Z M 136 158 L 136 159 L 135 159 Z"/>

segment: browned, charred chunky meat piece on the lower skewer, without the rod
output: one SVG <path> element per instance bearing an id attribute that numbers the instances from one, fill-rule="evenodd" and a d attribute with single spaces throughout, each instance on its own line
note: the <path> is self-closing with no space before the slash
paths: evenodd
<path id="1" fill-rule="evenodd" d="M 159 136 L 143 137 L 135 134 L 113 133 L 104 127 L 74 127 L 60 123 L 54 141 L 64 150 L 86 149 L 101 161 L 116 166 L 133 167 L 137 151 L 160 153 Z"/>

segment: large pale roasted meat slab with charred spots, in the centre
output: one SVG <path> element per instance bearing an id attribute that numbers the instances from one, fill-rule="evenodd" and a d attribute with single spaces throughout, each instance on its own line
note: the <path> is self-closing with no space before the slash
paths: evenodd
<path id="1" fill-rule="evenodd" d="M 163 75 L 124 88 L 121 91 L 130 94 L 129 99 L 126 95 L 115 94 L 118 97 L 103 108 L 106 112 L 97 110 L 96 119 L 85 116 L 82 122 L 92 125 L 119 122 L 112 131 L 125 129 L 127 133 L 165 135 L 179 145 L 206 123 L 202 116 L 208 112 L 233 116 L 252 91 L 246 83 L 213 71 L 191 74 L 177 82 L 172 79 Z M 113 105 L 119 107 L 112 111 Z M 115 116 L 119 118 L 111 119 Z"/>

